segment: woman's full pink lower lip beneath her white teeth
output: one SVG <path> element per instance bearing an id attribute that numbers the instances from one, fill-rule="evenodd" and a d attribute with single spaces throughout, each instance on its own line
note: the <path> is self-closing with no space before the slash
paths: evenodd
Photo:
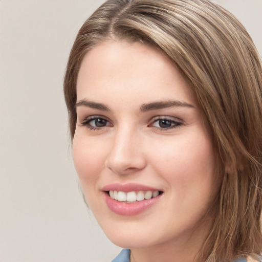
<path id="1" fill-rule="evenodd" d="M 105 203 L 110 208 L 111 211 L 115 212 L 119 215 L 137 215 L 142 212 L 144 212 L 146 209 L 151 207 L 152 205 L 156 204 L 159 200 L 160 195 L 156 198 L 148 199 L 148 200 L 142 200 L 142 201 L 136 201 L 134 203 L 125 203 L 120 202 L 115 199 L 112 199 L 107 192 L 105 192 Z"/>

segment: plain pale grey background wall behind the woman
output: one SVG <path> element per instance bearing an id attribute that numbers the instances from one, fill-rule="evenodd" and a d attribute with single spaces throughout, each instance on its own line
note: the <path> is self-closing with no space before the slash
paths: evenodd
<path id="1" fill-rule="evenodd" d="M 0 0 L 2 262 L 102 262 L 120 250 L 79 193 L 62 93 L 76 33 L 102 2 Z M 242 21 L 261 54 L 262 0 L 216 2 Z"/>

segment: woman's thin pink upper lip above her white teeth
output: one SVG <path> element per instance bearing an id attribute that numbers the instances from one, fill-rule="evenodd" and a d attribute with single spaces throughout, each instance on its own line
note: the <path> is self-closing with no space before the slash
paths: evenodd
<path id="1" fill-rule="evenodd" d="M 123 192 L 130 192 L 130 191 L 161 191 L 157 188 L 137 184 L 137 183 L 113 183 L 106 185 L 102 188 L 103 191 L 110 191 L 110 190 L 116 190 L 116 191 L 123 191 Z"/>

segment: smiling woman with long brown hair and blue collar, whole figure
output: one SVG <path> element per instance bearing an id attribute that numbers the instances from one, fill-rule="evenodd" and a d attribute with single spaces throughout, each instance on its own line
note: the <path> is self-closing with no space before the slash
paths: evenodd
<path id="1" fill-rule="evenodd" d="M 85 21 L 64 94 L 114 261 L 260 259 L 261 90 L 248 33 L 210 1 L 109 0 Z"/>

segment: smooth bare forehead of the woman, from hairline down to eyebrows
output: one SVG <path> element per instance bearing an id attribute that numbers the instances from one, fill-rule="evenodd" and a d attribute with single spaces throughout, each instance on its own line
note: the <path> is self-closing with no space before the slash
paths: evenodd
<path id="1" fill-rule="evenodd" d="M 194 100 L 176 65 L 155 47 L 139 42 L 101 43 L 83 58 L 77 79 L 77 100 L 126 95 L 148 100 Z M 188 101 L 189 102 L 189 101 Z"/>

